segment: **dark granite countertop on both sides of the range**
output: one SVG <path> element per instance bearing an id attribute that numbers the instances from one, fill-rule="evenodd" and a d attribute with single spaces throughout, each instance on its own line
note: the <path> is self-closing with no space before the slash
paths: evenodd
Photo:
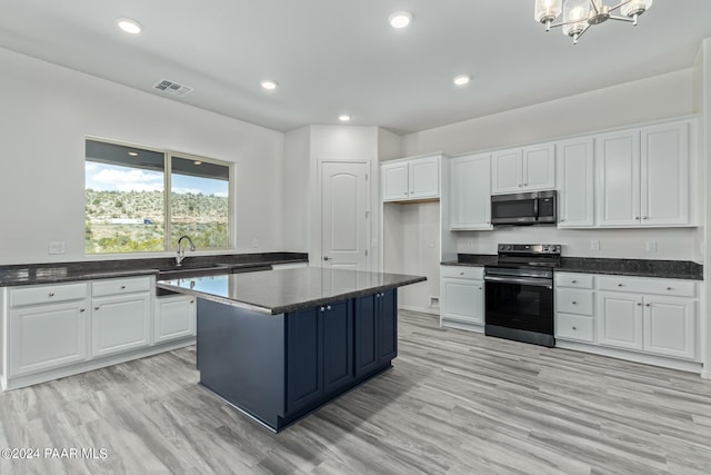
<path id="1" fill-rule="evenodd" d="M 460 254 L 457 260 L 443 266 L 483 267 L 497 264 L 490 254 Z M 619 276 L 660 277 L 668 279 L 703 280 L 703 266 L 690 260 L 608 259 L 597 257 L 562 257 L 555 271 L 610 274 Z"/>

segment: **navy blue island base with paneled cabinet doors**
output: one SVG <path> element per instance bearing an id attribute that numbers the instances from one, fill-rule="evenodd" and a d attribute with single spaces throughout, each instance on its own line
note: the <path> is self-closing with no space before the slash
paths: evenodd
<path id="1" fill-rule="evenodd" d="M 274 432 L 397 354 L 397 289 L 280 315 L 198 299 L 200 384 Z"/>

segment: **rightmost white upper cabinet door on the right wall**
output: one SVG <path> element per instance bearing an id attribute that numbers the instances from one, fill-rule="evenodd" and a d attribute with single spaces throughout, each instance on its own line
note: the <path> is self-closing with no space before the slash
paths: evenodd
<path id="1" fill-rule="evenodd" d="M 641 132 L 642 226 L 689 225 L 689 123 Z"/>

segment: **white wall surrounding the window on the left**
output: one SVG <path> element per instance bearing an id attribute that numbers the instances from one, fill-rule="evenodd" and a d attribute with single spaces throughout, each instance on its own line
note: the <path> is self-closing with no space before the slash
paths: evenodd
<path id="1" fill-rule="evenodd" d="M 3 49 L 0 70 L 0 264 L 84 259 L 87 135 L 233 161 L 237 250 L 281 250 L 281 132 Z"/>

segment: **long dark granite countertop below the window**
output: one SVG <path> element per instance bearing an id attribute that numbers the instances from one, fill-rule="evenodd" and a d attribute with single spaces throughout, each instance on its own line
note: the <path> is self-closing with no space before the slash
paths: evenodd
<path id="1" fill-rule="evenodd" d="M 274 264 L 307 263 L 308 260 L 306 253 L 257 253 L 217 256 L 188 255 L 181 267 L 176 266 L 176 259 L 172 257 L 11 265 L 0 266 L 0 287 L 158 275 L 160 270 L 177 268 L 189 269 L 221 265 L 230 269 L 241 269 Z"/>

